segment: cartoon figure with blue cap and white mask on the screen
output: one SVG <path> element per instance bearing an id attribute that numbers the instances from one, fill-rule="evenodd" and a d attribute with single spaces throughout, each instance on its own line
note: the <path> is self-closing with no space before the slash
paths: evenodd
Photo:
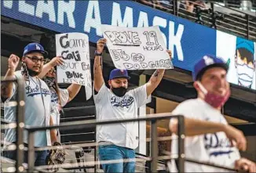
<path id="1" fill-rule="evenodd" d="M 253 41 L 236 38 L 235 61 L 238 85 L 251 88 L 256 64 Z"/>

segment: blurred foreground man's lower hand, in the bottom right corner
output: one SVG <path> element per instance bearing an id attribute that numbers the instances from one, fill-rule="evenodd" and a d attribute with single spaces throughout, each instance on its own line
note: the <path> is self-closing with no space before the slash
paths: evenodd
<path id="1" fill-rule="evenodd" d="M 251 160 L 247 160 L 245 158 L 240 158 L 240 160 L 236 160 L 235 168 L 238 171 L 256 172 L 256 164 Z"/>

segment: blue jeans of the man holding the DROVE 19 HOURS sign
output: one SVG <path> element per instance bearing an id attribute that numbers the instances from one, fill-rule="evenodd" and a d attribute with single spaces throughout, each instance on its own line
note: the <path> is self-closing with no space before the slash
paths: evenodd
<path id="1" fill-rule="evenodd" d="M 99 146 L 98 155 L 100 161 L 135 159 L 135 152 L 121 146 Z M 104 173 L 110 172 L 135 172 L 135 161 L 119 162 L 115 164 L 101 164 Z"/>

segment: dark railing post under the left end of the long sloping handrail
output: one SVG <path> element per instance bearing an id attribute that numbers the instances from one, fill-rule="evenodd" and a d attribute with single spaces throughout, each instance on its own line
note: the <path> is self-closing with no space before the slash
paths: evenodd
<path id="1" fill-rule="evenodd" d="M 27 151 L 28 172 L 33 172 L 35 167 L 34 135 L 35 135 L 35 132 L 28 131 L 28 151 Z"/>

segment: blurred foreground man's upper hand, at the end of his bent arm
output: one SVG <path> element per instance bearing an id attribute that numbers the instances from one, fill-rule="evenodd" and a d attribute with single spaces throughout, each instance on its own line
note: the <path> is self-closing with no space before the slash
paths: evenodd
<path id="1" fill-rule="evenodd" d="M 232 146 L 236 146 L 242 151 L 247 150 L 247 139 L 244 137 L 242 131 L 233 128 L 231 125 L 225 125 L 224 132 L 232 143 Z"/>

